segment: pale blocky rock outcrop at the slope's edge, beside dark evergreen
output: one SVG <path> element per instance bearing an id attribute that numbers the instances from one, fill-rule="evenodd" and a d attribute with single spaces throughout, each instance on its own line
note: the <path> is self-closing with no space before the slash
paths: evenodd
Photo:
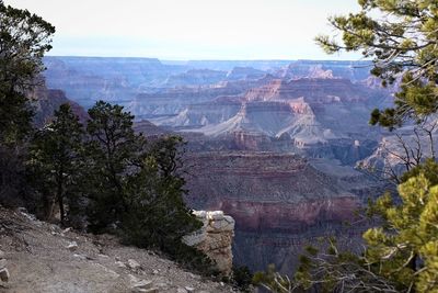
<path id="1" fill-rule="evenodd" d="M 204 227 L 183 238 L 188 246 L 204 251 L 217 268 L 226 275 L 232 270 L 232 241 L 234 237 L 234 219 L 224 215 L 222 211 L 194 212 L 204 223 Z"/>

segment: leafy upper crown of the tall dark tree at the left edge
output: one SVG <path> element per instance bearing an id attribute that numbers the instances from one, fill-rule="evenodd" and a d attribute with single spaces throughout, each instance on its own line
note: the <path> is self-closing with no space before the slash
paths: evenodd
<path id="1" fill-rule="evenodd" d="M 55 27 L 27 10 L 0 2 L 0 143 L 13 144 L 31 131 L 26 92 L 37 84 L 42 58 Z"/>

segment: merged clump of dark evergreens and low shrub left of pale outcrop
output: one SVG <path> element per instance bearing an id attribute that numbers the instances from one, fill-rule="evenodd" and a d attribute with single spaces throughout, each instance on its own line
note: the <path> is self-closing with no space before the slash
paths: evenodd
<path id="1" fill-rule="evenodd" d="M 100 101 L 89 110 L 85 144 L 89 228 L 128 244 L 160 249 L 184 266 L 214 273 L 211 261 L 182 244 L 201 223 L 186 206 L 181 137 L 147 143 L 123 106 Z M 208 269 L 209 268 L 209 269 Z"/>

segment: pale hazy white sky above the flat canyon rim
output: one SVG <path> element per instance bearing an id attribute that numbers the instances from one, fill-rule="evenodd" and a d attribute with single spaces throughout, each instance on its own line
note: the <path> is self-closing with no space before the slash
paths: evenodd
<path id="1" fill-rule="evenodd" d="M 358 59 L 314 44 L 357 0 L 5 0 L 57 29 L 50 55 L 161 59 Z"/>

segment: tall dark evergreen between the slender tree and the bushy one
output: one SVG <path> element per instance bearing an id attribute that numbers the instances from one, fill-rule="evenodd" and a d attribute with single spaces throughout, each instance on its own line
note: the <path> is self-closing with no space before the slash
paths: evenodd
<path id="1" fill-rule="evenodd" d="M 99 101 L 89 115 L 89 222 L 93 232 L 103 232 L 128 212 L 126 182 L 137 170 L 135 162 L 145 139 L 135 134 L 134 116 L 120 105 Z"/>

